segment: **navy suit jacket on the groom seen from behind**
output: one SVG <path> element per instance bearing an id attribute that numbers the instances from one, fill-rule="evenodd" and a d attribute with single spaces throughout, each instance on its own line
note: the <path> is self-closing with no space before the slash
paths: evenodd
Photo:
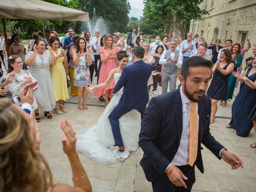
<path id="1" fill-rule="evenodd" d="M 124 86 L 119 101 L 120 106 L 137 109 L 142 113 L 145 112 L 149 98 L 147 85 L 151 72 L 151 65 L 144 63 L 142 60 L 137 60 L 132 65 L 124 67 L 113 89 L 113 93 L 116 93 Z"/>

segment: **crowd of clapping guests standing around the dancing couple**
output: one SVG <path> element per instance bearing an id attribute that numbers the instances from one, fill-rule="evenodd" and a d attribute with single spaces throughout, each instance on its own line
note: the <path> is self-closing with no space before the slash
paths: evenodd
<path id="1" fill-rule="evenodd" d="M 240 92 L 232 105 L 232 120 L 227 127 L 235 128 L 239 136 L 248 136 L 253 126 L 256 129 L 256 46 L 252 50 L 253 56 L 246 58 L 246 71 L 241 73 L 244 53 L 251 48 L 249 39 L 247 47 L 244 48 L 244 42 L 233 44 L 232 35 L 224 45 L 221 45 L 220 39 L 216 39 L 215 44 L 214 39 L 207 44 L 204 37 L 199 38 L 197 34 L 193 35 L 190 32 L 185 40 L 182 40 L 180 33 L 173 33 L 172 38 L 166 35 L 156 36 L 154 40 L 149 36 L 145 39 L 142 37 L 141 33 L 137 33 L 136 28 L 133 28 L 132 32 L 128 33 L 125 44 L 120 32 L 100 36 L 100 30 L 95 30 L 92 37 L 90 32 L 83 31 L 80 37 L 73 28 L 69 28 L 65 37 L 58 37 L 56 31 L 50 31 L 46 41 L 44 34 L 39 31 L 32 34 L 32 40 L 28 44 L 30 51 L 26 52 L 26 48 L 20 44 L 20 37 L 17 34 L 10 36 L 8 33 L 8 38 L 12 41 L 9 44 L 9 58 L 4 47 L 4 39 L 0 38 L 3 62 L 1 71 L 3 67 L 8 69 L 6 81 L 1 80 L 0 87 L 4 88 L 7 85 L 8 91 L 15 97 L 20 94 L 24 85 L 37 81 L 38 89 L 34 92 L 35 99 L 32 104 L 37 122 L 40 121 L 38 108 L 41 108 L 44 116 L 49 119 L 52 118 L 51 110 L 60 115 L 67 112 L 63 104 L 69 98 L 69 85 L 71 96 L 78 97 L 78 108 L 87 110 L 86 87 L 92 84 L 93 77 L 97 77 L 97 84 L 104 83 L 110 71 L 118 67 L 116 58 L 120 50 L 125 49 L 129 65 L 132 64 L 132 48 L 142 46 L 145 50 L 143 61 L 151 64 L 153 72 L 153 76 L 148 80 L 148 91 L 152 86 L 153 94 L 156 95 L 159 85 L 162 86 L 164 94 L 167 92 L 168 84 L 170 91 L 176 89 L 184 60 L 193 56 L 205 58 L 212 62 L 212 80 L 207 91 L 212 102 L 210 123 L 215 121 L 218 101 L 220 106 L 225 107 L 228 100 L 233 98 L 236 81 L 239 81 Z M 112 79 L 108 86 L 94 91 L 94 96 L 105 102 L 105 107 L 113 96 L 114 86 Z M 6 89 L 0 90 L 1 97 L 6 94 Z M 245 121 L 248 121 L 247 124 Z M 252 147 L 256 148 L 256 143 L 252 144 Z"/>

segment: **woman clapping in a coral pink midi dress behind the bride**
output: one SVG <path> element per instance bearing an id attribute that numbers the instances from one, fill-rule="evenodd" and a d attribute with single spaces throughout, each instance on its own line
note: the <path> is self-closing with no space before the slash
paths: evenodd
<path id="1" fill-rule="evenodd" d="M 98 84 L 104 83 L 108 78 L 108 74 L 114 68 L 116 68 L 116 53 L 118 48 L 113 45 L 113 37 L 107 34 L 104 38 L 103 47 L 99 48 L 100 60 L 102 61 L 102 66 L 100 68 L 99 81 Z M 100 96 L 105 95 L 105 107 L 108 105 L 108 98 L 113 96 L 112 89 L 115 87 L 115 82 L 112 80 L 106 88 L 97 89 L 94 92 L 94 96 L 100 98 Z"/>

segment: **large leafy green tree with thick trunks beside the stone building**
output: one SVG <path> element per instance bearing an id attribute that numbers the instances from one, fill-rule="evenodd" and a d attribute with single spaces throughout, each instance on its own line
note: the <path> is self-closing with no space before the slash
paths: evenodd
<path id="1" fill-rule="evenodd" d="M 208 11 L 198 6 L 204 0 L 144 0 L 144 19 L 156 19 L 164 24 L 164 34 L 169 37 L 178 31 L 183 37 L 186 33 L 186 22 L 201 19 Z"/>

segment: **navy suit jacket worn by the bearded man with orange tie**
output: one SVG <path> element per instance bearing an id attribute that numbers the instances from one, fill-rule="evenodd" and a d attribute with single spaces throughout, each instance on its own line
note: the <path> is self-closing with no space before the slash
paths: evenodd
<path id="1" fill-rule="evenodd" d="M 195 165 L 203 173 L 204 166 L 201 155 L 201 143 L 217 158 L 224 148 L 210 133 L 211 102 L 205 95 L 198 102 L 199 131 L 198 154 Z M 140 165 L 146 178 L 152 182 L 157 180 L 172 162 L 180 144 L 182 134 L 182 100 L 180 88 L 153 97 L 149 104 L 139 135 L 139 145 L 144 151 Z"/>

